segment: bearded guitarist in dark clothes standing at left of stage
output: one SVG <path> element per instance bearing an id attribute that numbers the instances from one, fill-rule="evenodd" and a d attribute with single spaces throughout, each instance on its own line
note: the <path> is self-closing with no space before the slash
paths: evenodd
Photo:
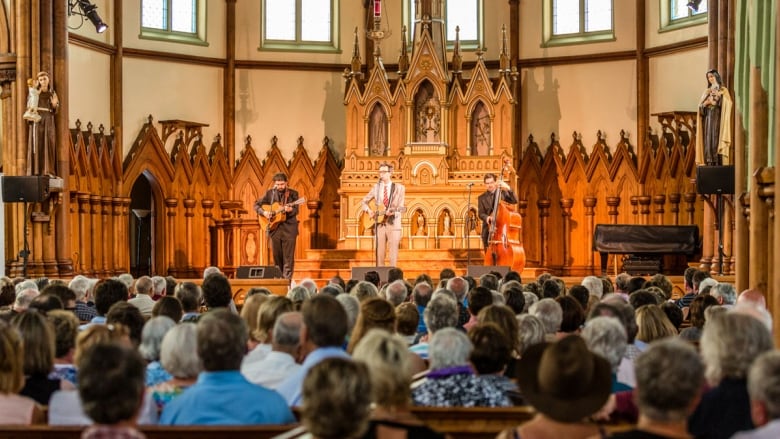
<path id="1" fill-rule="evenodd" d="M 287 176 L 281 172 L 274 175 L 273 181 L 274 188 L 255 202 L 255 212 L 269 221 L 266 232 L 271 239 L 274 264 L 286 279 L 292 279 L 298 238 L 298 191 L 287 187 Z"/>

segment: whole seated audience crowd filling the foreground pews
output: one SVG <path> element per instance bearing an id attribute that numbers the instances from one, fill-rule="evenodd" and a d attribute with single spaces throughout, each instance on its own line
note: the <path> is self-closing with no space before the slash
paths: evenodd
<path id="1" fill-rule="evenodd" d="M 389 277 L 251 288 L 238 307 L 217 267 L 202 282 L 0 278 L 0 425 L 443 438 L 414 406 L 516 405 L 535 415 L 501 438 L 606 437 L 605 420 L 626 426 L 615 438 L 780 437 L 761 291 L 694 268 L 682 289 L 662 274 Z"/>

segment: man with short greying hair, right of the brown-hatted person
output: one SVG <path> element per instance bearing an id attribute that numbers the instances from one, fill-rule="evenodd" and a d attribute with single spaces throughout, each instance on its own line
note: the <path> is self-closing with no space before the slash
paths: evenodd
<path id="1" fill-rule="evenodd" d="M 696 349 L 676 338 L 652 343 L 636 359 L 636 429 L 613 438 L 690 437 L 688 416 L 701 398 L 704 365 Z"/>

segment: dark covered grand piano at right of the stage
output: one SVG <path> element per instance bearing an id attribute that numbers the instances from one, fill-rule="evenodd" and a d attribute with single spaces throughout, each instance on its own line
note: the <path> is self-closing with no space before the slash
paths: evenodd
<path id="1" fill-rule="evenodd" d="M 690 257 L 699 246 L 699 227 L 695 225 L 597 224 L 593 235 L 593 250 L 601 256 L 602 275 L 607 274 L 610 254 L 632 255 L 624 260 L 623 270 L 629 274 L 655 274 L 663 271 L 665 255 Z"/>

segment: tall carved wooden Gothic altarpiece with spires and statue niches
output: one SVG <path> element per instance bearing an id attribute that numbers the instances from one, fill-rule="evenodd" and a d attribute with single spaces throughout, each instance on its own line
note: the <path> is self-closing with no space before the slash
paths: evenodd
<path id="1" fill-rule="evenodd" d="M 506 69 L 491 77 L 480 54 L 465 78 L 457 45 L 448 72 L 444 29 L 436 20 L 441 6 L 436 5 L 420 12 L 412 57 L 406 61 L 404 45 L 398 63 L 402 71 L 392 77 L 378 50 L 364 77 L 355 46 L 352 69 L 345 73 L 340 248 L 372 248 L 372 224 L 360 201 L 377 182 L 382 162 L 391 163 L 393 178 L 406 186 L 402 248 L 481 246 L 479 226 L 466 218 L 469 206 L 476 217 L 484 174 L 498 172 L 506 160 L 514 162 L 516 75 Z"/>

